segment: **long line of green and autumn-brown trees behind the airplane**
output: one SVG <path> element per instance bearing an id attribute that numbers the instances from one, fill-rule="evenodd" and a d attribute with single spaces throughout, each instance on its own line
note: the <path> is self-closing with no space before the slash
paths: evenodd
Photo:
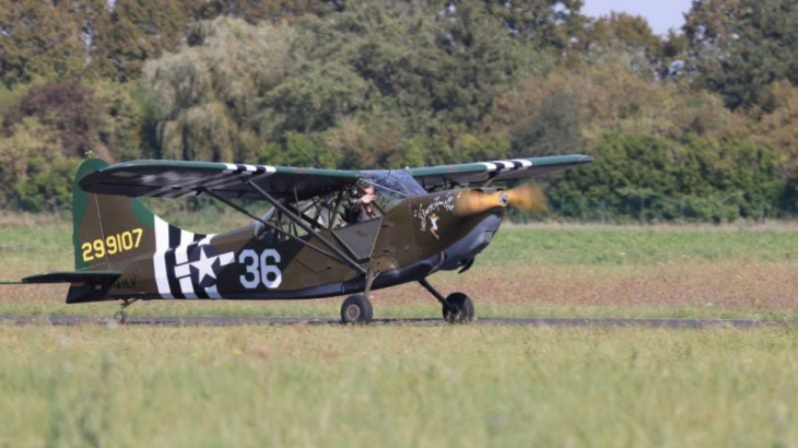
<path id="1" fill-rule="evenodd" d="M 685 25 L 582 0 L 0 0 L 0 207 L 69 207 L 85 156 L 329 168 L 579 152 L 550 216 L 798 213 L 798 3 Z"/>

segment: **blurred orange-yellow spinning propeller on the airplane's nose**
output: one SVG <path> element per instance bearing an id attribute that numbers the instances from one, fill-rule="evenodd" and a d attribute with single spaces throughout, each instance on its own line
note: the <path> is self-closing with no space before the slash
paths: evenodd
<path id="1" fill-rule="evenodd" d="M 461 216 L 481 213 L 497 207 L 512 207 L 525 212 L 541 212 L 548 208 L 548 203 L 543 189 L 531 184 L 493 192 L 468 190 L 455 200 L 455 213 Z"/>

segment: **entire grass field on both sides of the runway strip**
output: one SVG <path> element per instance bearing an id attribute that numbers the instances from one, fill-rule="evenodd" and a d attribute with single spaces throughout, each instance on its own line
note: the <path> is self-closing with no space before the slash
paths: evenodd
<path id="1" fill-rule="evenodd" d="M 796 229 L 509 226 L 471 271 L 432 282 L 479 316 L 796 319 Z M 71 269 L 70 234 L 0 219 L 0 278 Z M 0 287 L 0 315 L 116 307 Z M 418 285 L 375 295 L 379 317 L 439 313 Z M 132 313 L 333 317 L 340 302 Z M 0 402 L 2 448 L 789 447 L 798 328 L 0 325 Z"/>

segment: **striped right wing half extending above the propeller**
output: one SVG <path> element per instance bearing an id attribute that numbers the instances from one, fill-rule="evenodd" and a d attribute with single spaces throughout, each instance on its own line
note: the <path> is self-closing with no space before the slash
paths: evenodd
<path id="1" fill-rule="evenodd" d="M 443 185 L 467 185 L 485 182 L 488 180 L 526 179 L 590 162 L 592 162 L 592 157 L 589 155 L 553 155 L 411 168 L 410 175 L 422 187 L 429 190 Z"/>

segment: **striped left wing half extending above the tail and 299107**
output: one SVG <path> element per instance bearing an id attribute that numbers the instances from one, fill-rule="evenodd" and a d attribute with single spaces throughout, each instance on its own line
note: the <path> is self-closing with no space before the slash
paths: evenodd
<path id="1" fill-rule="evenodd" d="M 92 173 L 83 177 L 79 185 L 83 190 L 98 194 L 180 198 L 209 191 L 223 198 L 262 200 L 262 194 L 250 185 L 254 184 L 275 198 L 306 199 L 336 191 L 360 177 L 359 172 L 340 169 L 134 161 Z"/>

